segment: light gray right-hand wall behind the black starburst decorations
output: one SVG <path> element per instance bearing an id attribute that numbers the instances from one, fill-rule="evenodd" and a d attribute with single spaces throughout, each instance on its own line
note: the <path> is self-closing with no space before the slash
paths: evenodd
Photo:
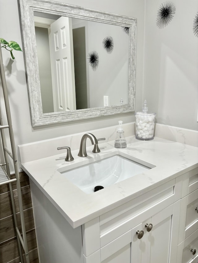
<path id="1" fill-rule="evenodd" d="M 197 0 L 173 0 L 176 12 L 167 27 L 156 26 L 161 0 L 146 0 L 144 95 L 158 123 L 198 130 L 198 38 L 192 21 Z"/>

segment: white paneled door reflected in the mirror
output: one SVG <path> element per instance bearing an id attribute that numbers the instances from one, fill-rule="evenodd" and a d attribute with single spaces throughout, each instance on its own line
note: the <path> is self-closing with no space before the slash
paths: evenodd
<path id="1" fill-rule="evenodd" d="M 75 110 L 74 51 L 71 18 L 60 17 L 50 25 L 54 111 Z"/>

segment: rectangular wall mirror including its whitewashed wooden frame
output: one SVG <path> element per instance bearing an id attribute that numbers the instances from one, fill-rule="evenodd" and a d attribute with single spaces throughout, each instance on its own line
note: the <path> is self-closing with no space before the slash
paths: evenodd
<path id="1" fill-rule="evenodd" d="M 18 2 L 32 126 L 134 111 L 136 18 Z"/>

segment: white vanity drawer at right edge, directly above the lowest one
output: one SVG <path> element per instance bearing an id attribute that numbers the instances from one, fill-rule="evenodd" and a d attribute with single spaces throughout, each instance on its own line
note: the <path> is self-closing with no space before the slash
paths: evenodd
<path id="1" fill-rule="evenodd" d="M 187 197 L 186 225 L 188 228 L 191 224 L 198 220 L 198 189 Z"/>

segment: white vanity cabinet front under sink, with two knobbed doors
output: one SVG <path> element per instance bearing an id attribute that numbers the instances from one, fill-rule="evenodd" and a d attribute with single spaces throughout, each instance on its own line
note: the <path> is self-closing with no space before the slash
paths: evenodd
<path id="1" fill-rule="evenodd" d="M 171 180 L 84 224 L 84 263 L 175 263 L 180 190 Z"/>

